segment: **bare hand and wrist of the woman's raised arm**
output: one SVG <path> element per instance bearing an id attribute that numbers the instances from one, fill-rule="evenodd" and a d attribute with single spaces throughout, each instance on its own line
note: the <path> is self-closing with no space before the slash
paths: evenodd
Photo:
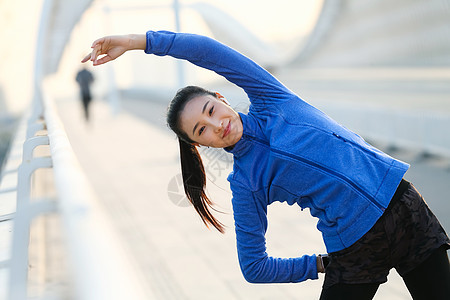
<path id="1" fill-rule="evenodd" d="M 102 37 L 92 43 L 92 51 L 82 63 L 92 61 L 94 66 L 112 61 L 128 50 L 145 50 L 145 35 L 112 35 Z"/>

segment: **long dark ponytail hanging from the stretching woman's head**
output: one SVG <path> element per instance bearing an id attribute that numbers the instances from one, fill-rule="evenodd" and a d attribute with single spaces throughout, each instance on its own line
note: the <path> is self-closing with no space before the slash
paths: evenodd
<path id="1" fill-rule="evenodd" d="M 194 145 L 180 138 L 178 141 L 180 144 L 181 174 L 183 175 L 186 197 L 192 203 L 206 227 L 212 225 L 218 231 L 224 233 L 224 225 L 210 211 L 214 208 L 212 207 L 212 201 L 205 193 L 206 175 L 202 158 Z"/>

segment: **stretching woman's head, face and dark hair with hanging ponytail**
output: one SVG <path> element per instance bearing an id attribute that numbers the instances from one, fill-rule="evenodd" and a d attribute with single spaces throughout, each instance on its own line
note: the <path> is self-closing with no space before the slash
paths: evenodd
<path id="1" fill-rule="evenodd" d="M 206 175 L 196 146 L 232 147 L 242 136 L 242 121 L 222 95 L 197 86 L 177 92 L 167 111 L 167 124 L 178 135 L 183 186 L 187 198 L 205 225 L 224 232 L 211 214 L 204 192 Z"/>

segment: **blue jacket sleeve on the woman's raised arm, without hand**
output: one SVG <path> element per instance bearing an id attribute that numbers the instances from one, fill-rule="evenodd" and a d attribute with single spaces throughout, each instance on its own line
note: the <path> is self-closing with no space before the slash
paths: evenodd
<path id="1" fill-rule="evenodd" d="M 271 104 L 294 95 L 269 72 L 232 48 L 206 36 L 148 31 L 145 53 L 169 55 L 212 70 L 244 89 L 252 104 Z M 256 103 L 254 103 L 256 102 Z"/>

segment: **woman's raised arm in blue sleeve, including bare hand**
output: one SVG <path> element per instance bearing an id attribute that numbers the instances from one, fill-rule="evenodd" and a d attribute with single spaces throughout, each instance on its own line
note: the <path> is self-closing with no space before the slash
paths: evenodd
<path id="1" fill-rule="evenodd" d="M 214 39 L 196 34 L 148 31 L 145 35 L 107 36 L 94 41 L 92 52 L 82 62 L 91 60 L 97 66 L 130 50 L 168 55 L 212 70 L 244 89 L 253 104 L 277 103 L 294 95 L 251 59 Z"/>

